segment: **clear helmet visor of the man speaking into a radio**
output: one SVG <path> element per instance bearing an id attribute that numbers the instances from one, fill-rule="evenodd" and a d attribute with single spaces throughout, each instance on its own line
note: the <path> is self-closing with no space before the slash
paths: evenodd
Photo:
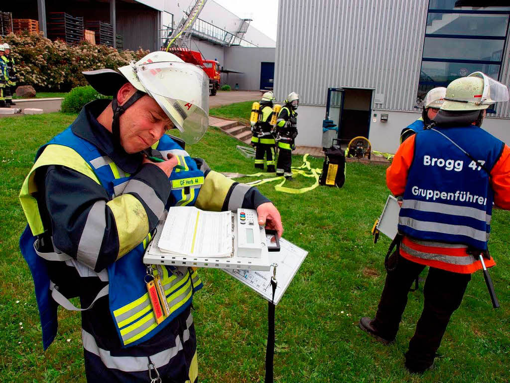
<path id="1" fill-rule="evenodd" d="M 200 140 L 209 124 L 209 78 L 199 67 L 176 61 L 135 67 L 147 93 L 170 117 L 186 143 Z"/>

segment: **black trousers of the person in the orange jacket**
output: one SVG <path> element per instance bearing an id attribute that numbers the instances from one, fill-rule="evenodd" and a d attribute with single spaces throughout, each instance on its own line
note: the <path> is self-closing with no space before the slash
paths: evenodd
<path id="1" fill-rule="evenodd" d="M 386 276 L 377 314 L 371 323 L 382 338 L 395 338 L 409 289 L 424 268 L 398 256 L 396 269 Z M 407 368 L 425 370 L 432 365 L 450 317 L 460 306 L 470 280 L 471 274 L 429 269 L 423 289 L 423 312 L 405 354 Z"/>

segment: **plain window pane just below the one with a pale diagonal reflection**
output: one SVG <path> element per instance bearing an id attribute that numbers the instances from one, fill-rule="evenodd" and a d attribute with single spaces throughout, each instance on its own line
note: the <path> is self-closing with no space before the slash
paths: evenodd
<path id="1" fill-rule="evenodd" d="M 425 37 L 423 59 L 501 61 L 504 40 Z"/>

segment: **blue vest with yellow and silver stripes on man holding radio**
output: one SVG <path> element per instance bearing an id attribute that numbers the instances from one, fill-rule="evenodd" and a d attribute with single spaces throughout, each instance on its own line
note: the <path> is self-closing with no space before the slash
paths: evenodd
<path id="1" fill-rule="evenodd" d="M 111 198 L 121 195 L 127 182 L 132 178 L 132 175 L 122 172 L 109 157 L 101 155 L 90 142 L 75 135 L 70 127 L 42 146 L 36 159 L 50 144 L 66 146 L 77 152 L 87 162 L 90 169 L 93 169 Z M 193 205 L 203 184 L 203 172 L 197 169 L 196 162 L 167 135 L 163 135 L 159 140 L 156 149 L 164 157 L 168 153 L 174 154 L 179 163 L 185 167 L 185 170 L 176 169 L 170 176 L 172 190 L 166 207 Z M 143 253 L 150 239 L 151 234 L 148 233 L 147 237 L 133 250 L 107 268 L 110 314 L 123 347 L 134 346 L 153 337 L 191 304 L 193 293 L 202 287 L 196 271 L 186 268 L 161 268 L 162 284 L 170 315 L 157 324 L 144 281 L 147 269 L 142 262 Z M 58 305 L 50 295 L 46 262 L 34 249 L 36 240 L 37 238 L 27 225 L 20 237 L 20 249 L 34 278 L 43 346 L 46 349 L 57 333 Z"/>

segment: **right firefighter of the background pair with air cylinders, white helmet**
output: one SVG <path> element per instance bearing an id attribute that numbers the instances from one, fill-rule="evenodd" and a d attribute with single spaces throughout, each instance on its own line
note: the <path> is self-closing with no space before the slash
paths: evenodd
<path id="1" fill-rule="evenodd" d="M 285 176 L 288 180 L 292 179 L 292 151 L 296 148 L 294 140 L 297 136 L 298 106 L 299 95 L 296 92 L 289 93 L 276 120 L 276 140 L 278 141 L 276 175 Z"/>

